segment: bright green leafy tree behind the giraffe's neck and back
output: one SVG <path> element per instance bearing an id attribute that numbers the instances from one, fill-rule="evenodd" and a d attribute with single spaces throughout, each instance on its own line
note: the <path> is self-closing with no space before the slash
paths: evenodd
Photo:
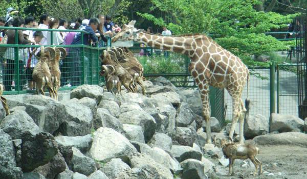
<path id="1" fill-rule="evenodd" d="M 138 13 L 157 25 L 166 25 L 173 34 L 215 34 L 224 48 L 243 59 L 253 54 L 287 49 L 286 44 L 266 35 L 272 29 L 285 27 L 298 14 L 280 15 L 256 11 L 258 0 L 153 0 L 155 8 L 168 12 L 165 19 Z M 169 22 L 169 23 L 166 23 Z"/>

